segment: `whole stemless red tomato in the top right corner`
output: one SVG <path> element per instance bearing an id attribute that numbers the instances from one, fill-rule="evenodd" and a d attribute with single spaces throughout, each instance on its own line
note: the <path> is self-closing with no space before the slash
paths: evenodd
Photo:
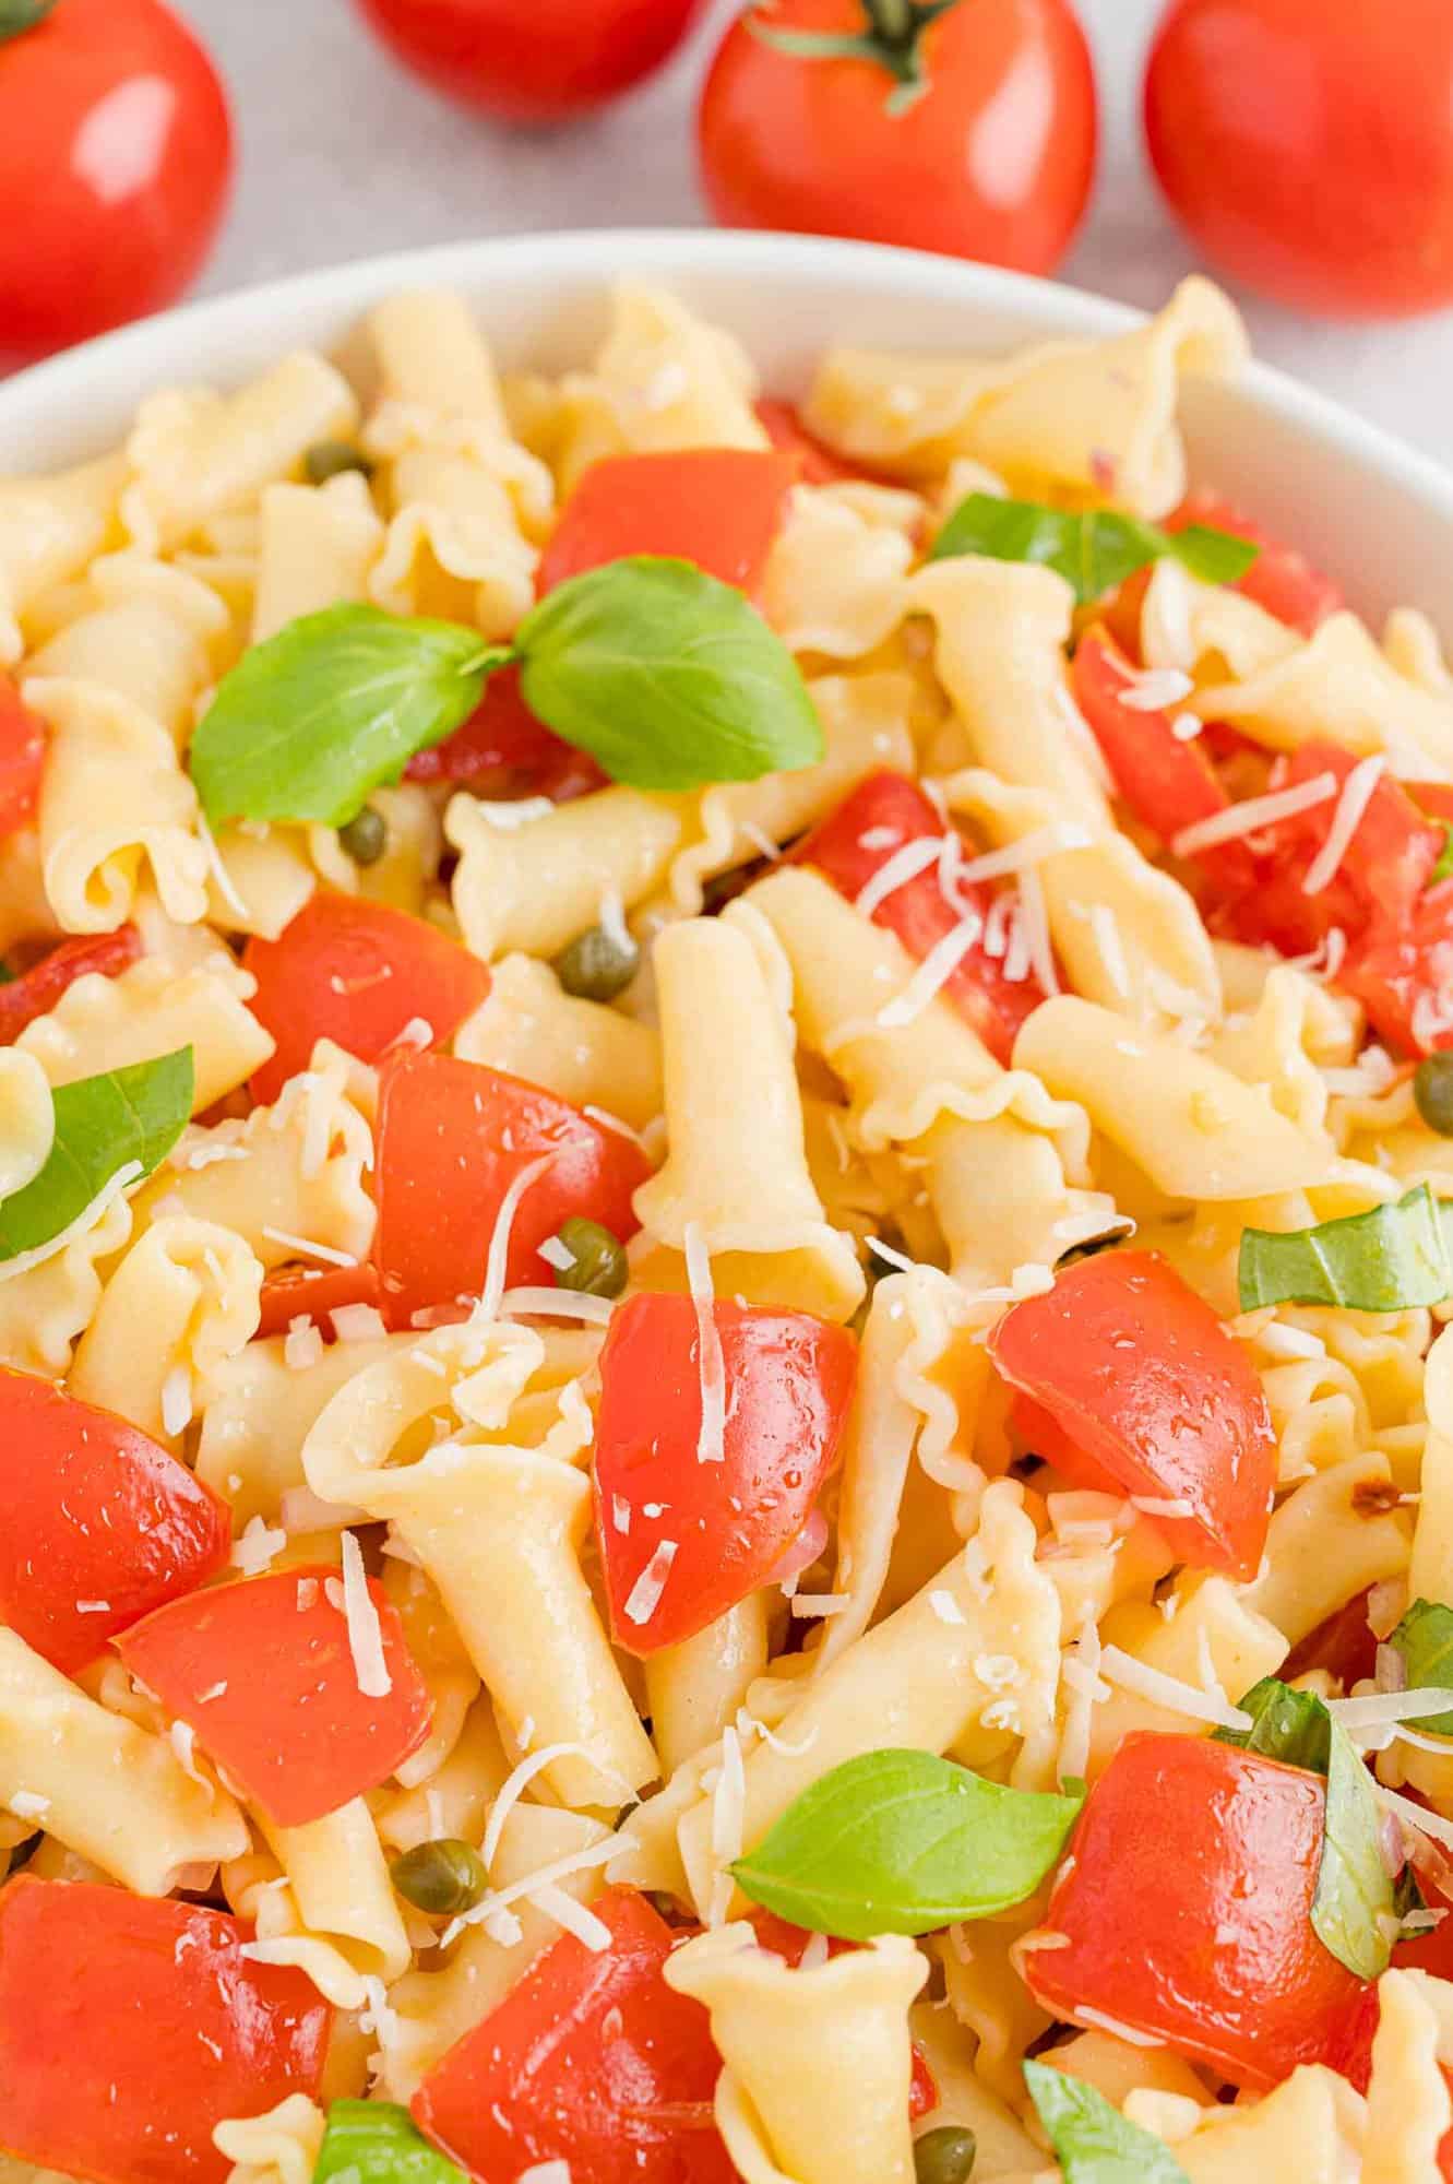
<path id="1" fill-rule="evenodd" d="M 1248 288 L 1331 319 L 1453 304 L 1453 0 L 1172 0 L 1145 131 Z"/>

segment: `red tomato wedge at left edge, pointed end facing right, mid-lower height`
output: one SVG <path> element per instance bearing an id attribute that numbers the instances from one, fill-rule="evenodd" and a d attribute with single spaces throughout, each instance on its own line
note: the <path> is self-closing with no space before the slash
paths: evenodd
<path id="1" fill-rule="evenodd" d="M 231 1511 L 185 1463 L 124 1417 L 9 1369 L 0 1500 L 0 1621 L 65 1675 L 231 1553 Z"/>

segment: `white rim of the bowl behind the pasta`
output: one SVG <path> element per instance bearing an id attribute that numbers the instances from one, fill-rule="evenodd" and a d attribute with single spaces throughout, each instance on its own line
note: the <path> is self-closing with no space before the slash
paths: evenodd
<path id="1" fill-rule="evenodd" d="M 1117 334 L 1148 319 L 1148 312 L 1089 288 L 884 242 L 713 227 L 565 227 L 399 249 L 196 297 L 0 380 L 0 430 L 13 415 L 20 415 L 22 424 L 26 413 L 39 411 L 83 415 L 85 393 L 98 376 L 124 376 L 127 367 L 151 352 L 175 349 L 177 369 L 185 373 L 188 352 L 199 339 L 225 336 L 229 328 L 251 332 L 273 314 L 286 319 L 301 301 L 314 308 L 336 304 L 340 312 L 360 310 L 399 288 L 458 282 L 480 286 L 493 266 L 517 273 L 521 262 L 530 260 L 541 282 L 548 282 L 552 271 L 593 273 L 600 282 L 633 271 L 655 271 L 659 280 L 670 282 L 676 273 L 698 269 L 724 277 L 750 277 L 770 264 L 774 273 L 801 280 L 805 286 L 831 277 L 866 293 L 912 293 L 936 301 L 962 295 L 966 306 L 980 304 L 986 310 L 1001 308 L 1017 317 L 1041 319 L 1045 339 Z M 286 339 L 284 334 L 281 341 Z M 1268 415 L 1285 417 L 1298 430 L 1335 443 L 1344 456 L 1379 470 L 1388 483 L 1453 524 L 1453 472 L 1409 441 L 1254 358 L 1237 376 L 1237 391 Z"/>

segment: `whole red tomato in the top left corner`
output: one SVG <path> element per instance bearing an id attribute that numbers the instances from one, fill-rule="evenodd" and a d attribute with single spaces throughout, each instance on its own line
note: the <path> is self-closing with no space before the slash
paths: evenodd
<path id="1" fill-rule="evenodd" d="M 0 356 L 175 301 L 229 181 L 227 94 L 159 0 L 2 0 Z"/>

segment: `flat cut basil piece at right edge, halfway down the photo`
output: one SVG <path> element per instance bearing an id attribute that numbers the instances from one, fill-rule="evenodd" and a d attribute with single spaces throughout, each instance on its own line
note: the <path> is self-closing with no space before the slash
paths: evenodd
<path id="1" fill-rule="evenodd" d="M 1261 1304 L 1346 1304 L 1403 1313 L 1453 1291 L 1440 1203 L 1427 1184 L 1366 1214 L 1309 1230 L 1244 1230 L 1237 1267 L 1241 1310 Z"/>

